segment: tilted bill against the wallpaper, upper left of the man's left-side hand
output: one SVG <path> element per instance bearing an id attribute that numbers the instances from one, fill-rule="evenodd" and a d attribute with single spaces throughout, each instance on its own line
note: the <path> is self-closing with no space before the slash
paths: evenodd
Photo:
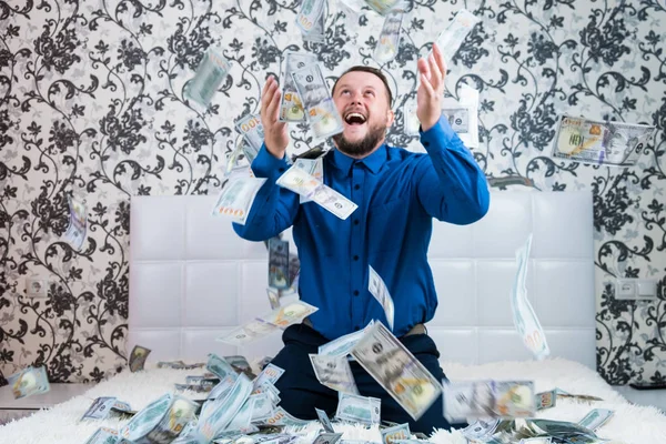
<path id="1" fill-rule="evenodd" d="M 194 78 L 185 85 L 185 97 L 208 108 L 230 70 L 231 62 L 218 49 L 209 48 Z"/>

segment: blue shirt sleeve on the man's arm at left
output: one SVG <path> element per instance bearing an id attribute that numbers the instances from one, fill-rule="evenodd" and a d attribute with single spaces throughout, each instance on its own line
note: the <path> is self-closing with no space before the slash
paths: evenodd
<path id="1" fill-rule="evenodd" d="M 294 223 L 300 206 L 299 194 L 275 183 L 289 167 L 286 155 L 278 159 L 262 144 L 252 162 L 252 172 L 266 181 L 252 202 L 245 224 L 233 222 L 238 235 L 249 241 L 265 241 Z"/>

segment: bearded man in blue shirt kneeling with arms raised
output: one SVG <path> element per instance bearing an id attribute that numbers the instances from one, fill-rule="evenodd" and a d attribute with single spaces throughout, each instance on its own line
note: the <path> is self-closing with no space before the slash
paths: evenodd
<path id="1" fill-rule="evenodd" d="M 287 127 L 278 121 L 278 82 L 269 79 L 262 91 L 265 139 L 252 170 L 268 181 L 245 225 L 234 224 L 234 230 L 244 239 L 263 241 L 293 225 L 301 259 L 300 296 L 320 309 L 305 323 L 286 329 L 284 349 L 272 361 L 285 370 L 276 384 L 281 405 L 296 417 L 316 418 L 314 407 L 333 414 L 337 405 L 337 393 L 316 381 L 307 354 L 371 320 L 389 325 L 367 290 L 369 265 L 393 296 L 393 333 L 434 377 L 444 379 L 440 353 L 423 326 L 437 307 L 426 258 L 432 219 L 455 224 L 480 220 L 488 208 L 488 190 L 471 152 L 441 117 L 446 70 L 440 49 L 435 46 L 417 68 L 416 113 L 427 154 L 384 143 L 394 114 L 381 71 L 354 67 L 333 85 L 344 132 L 333 137 L 336 149 L 324 158 L 324 183 L 359 205 L 346 220 L 314 202 L 300 204 L 297 194 L 275 184 L 289 168 Z M 360 393 L 382 398 L 383 420 L 408 422 L 412 432 L 450 428 L 441 398 L 415 422 L 356 362 L 351 366 Z"/>

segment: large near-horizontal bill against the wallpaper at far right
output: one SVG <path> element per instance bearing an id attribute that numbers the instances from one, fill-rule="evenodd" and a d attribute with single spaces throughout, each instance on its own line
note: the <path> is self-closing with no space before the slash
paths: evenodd
<path id="1" fill-rule="evenodd" d="M 630 167 L 636 164 L 655 127 L 602 122 L 562 115 L 557 122 L 553 158 L 582 163 Z"/>

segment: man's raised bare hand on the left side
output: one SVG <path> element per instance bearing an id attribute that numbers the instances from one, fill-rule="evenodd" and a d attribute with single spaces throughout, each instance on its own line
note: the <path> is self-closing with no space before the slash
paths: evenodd
<path id="1" fill-rule="evenodd" d="M 280 122 L 280 85 L 270 77 L 261 92 L 261 124 L 264 129 L 264 143 L 271 154 L 284 158 L 289 144 L 286 122 Z"/>

